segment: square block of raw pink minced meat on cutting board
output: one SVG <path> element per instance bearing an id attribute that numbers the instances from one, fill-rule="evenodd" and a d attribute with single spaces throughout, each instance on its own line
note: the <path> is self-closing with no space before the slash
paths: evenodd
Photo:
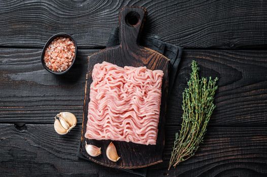
<path id="1" fill-rule="evenodd" d="M 163 72 L 94 65 L 85 138 L 155 145 Z"/>

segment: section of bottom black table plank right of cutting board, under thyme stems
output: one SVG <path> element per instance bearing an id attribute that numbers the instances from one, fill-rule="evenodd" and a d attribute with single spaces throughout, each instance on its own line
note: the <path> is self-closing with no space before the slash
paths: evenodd
<path id="1" fill-rule="evenodd" d="M 204 143 L 195 155 L 166 171 L 175 132 L 179 126 L 166 127 L 162 164 L 151 166 L 148 176 L 266 176 L 265 127 L 208 127 Z M 262 132 L 261 132 L 262 131 Z M 256 143 L 257 142 L 257 143 Z M 257 144 L 256 146 L 254 146 Z M 262 149 L 263 148 L 263 149 Z"/>

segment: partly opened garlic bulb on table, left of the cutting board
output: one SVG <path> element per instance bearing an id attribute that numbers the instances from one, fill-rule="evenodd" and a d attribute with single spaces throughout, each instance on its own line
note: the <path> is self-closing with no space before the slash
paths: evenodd
<path id="1" fill-rule="evenodd" d="M 55 116 L 54 128 L 59 135 L 65 135 L 76 126 L 77 119 L 73 113 L 60 112 Z"/>

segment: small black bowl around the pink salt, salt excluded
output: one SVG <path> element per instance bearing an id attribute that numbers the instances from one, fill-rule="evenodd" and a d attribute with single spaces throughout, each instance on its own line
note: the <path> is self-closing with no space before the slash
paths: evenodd
<path id="1" fill-rule="evenodd" d="M 50 44 L 55 38 L 57 38 L 57 37 L 69 37 L 69 38 L 73 41 L 74 46 L 75 46 L 75 53 L 74 53 L 74 58 L 73 58 L 72 64 L 71 64 L 71 66 L 69 66 L 68 69 L 66 69 L 66 70 L 64 70 L 64 71 L 62 71 L 62 72 L 54 72 L 54 71 L 50 70 L 50 69 L 45 65 L 45 60 L 44 60 L 44 56 L 45 56 L 46 48 L 47 48 L 47 47 L 49 46 L 49 44 Z M 48 39 L 48 41 L 46 42 L 45 47 L 44 47 L 43 52 L 42 52 L 42 55 L 41 55 L 42 65 L 43 65 L 43 67 L 44 67 L 47 71 L 49 71 L 49 72 L 51 72 L 51 73 L 53 73 L 53 74 L 58 74 L 58 75 L 60 75 L 60 74 L 64 74 L 64 73 L 68 72 L 68 71 L 71 69 L 71 67 L 73 66 L 73 64 L 74 64 L 74 62 L 75 62 L 75 59 L 76 59 L 76 54 L 77 54 L 77 43 L 76 43 L 76 41 L 74 40 L 74 38 L 73 38 L 71 35 L 66 34 L 66 33 L 58 33 L 58 34 L 55 34 L 55 35 L 53 35 L 52 37 L 50 37 L 50 38 Z"/>

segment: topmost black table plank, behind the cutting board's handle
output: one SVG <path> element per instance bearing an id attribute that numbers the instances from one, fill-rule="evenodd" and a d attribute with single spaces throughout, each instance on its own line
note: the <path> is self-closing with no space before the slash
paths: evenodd
<path id="1" fill-rule="evenodd" d="M 267 44 L 266 1 L 1 1 L 0 46 L 42 48 L 58 32 L 79 48 L 103 48 L 124 6 L 148 9 L 145 32 L 188 48 Z"/>

